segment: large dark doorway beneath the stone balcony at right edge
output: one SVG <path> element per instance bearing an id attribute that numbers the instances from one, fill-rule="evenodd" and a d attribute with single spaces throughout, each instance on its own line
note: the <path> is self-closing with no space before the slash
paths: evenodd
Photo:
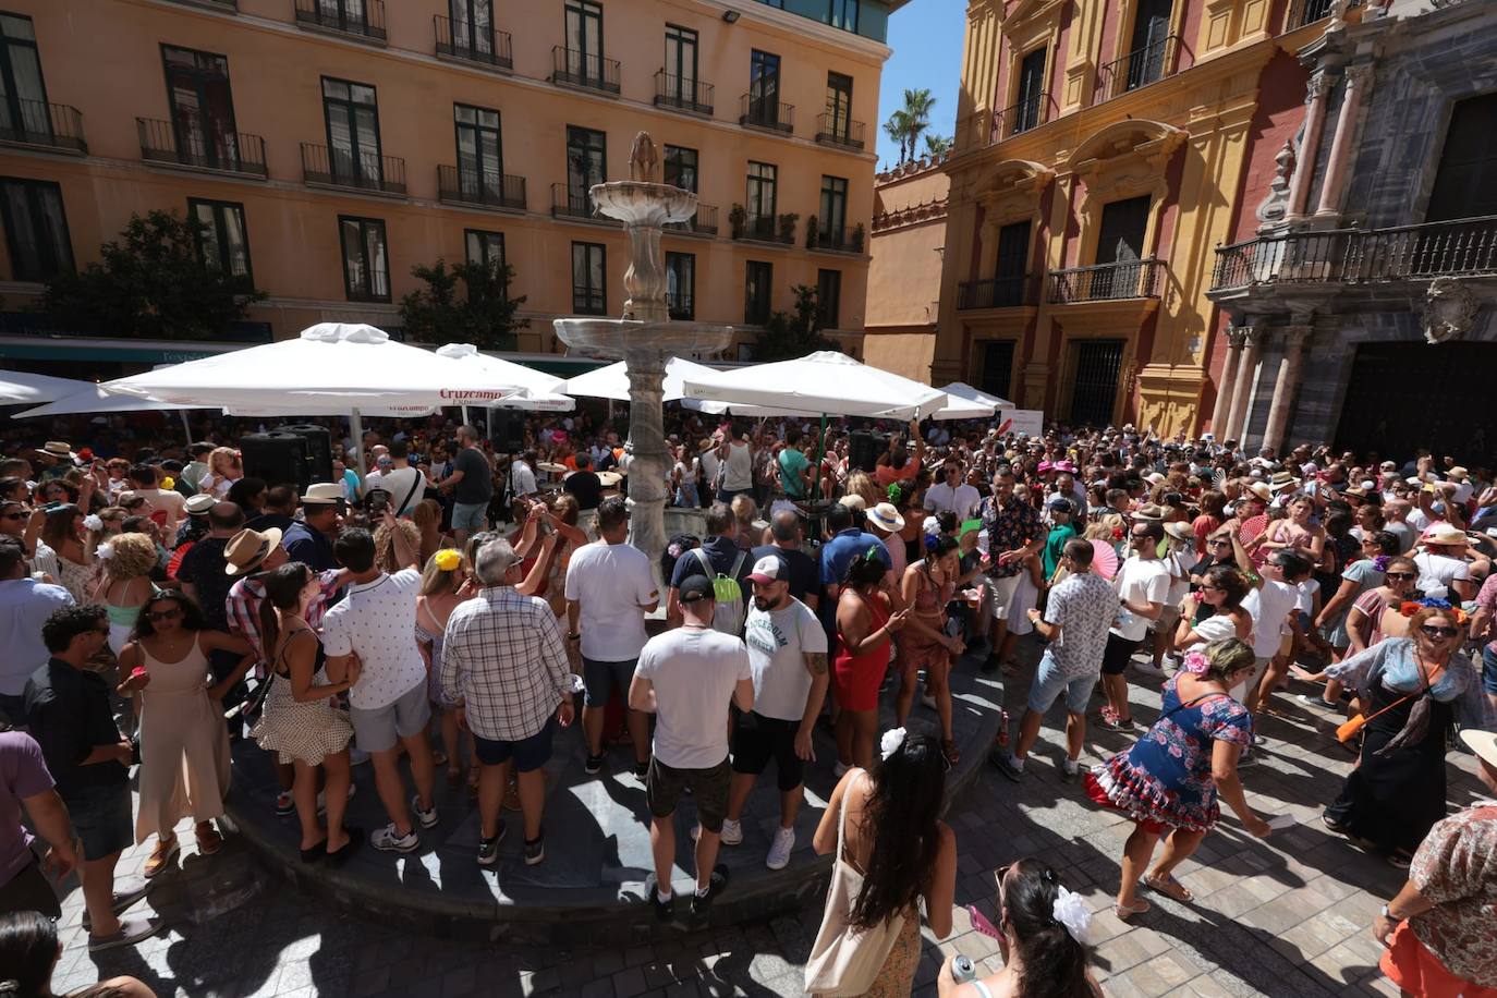
<path id="1" fill-rule="evenodd" d="M 1494 343 L 1359 344 L 1335 449 L 1376 450 L 1401 462 L 1416 447 L 1446 440 L 1467 464 L 1484 464 L 1497 453 L 1494 370 Z"/>

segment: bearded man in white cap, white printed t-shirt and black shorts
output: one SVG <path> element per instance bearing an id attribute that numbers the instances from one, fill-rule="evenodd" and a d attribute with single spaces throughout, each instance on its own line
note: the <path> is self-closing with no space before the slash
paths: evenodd
<path id="1" fill-rule="evenodd" d="M 804 765 L 816 762 L 811 730 L 826 699 L 826 631 L 805 603 L 790 596 L 789 567 L 765 555 L 748 573 L 753 607 L 744 643 L 753 667 L 753 711 L 734 729 L 734 781 L 728 795 L 723 844 L 743 841 L 740 817 L 759 774 L 774 759 L 780 787 L 780 829 L 765 865 L 784 869 L 795 848 L 795 815 L 801 811 Z"/>

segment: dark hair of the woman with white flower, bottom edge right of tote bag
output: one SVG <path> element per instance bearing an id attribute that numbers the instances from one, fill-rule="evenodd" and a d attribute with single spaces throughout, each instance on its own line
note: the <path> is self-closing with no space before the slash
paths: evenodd
<path id="1" fill-rule="evenodd" d="M 1039 859 L 1021 859 L 998 884 L 1003 928 L 1019 950 L 1018 994 L 1024 998 L 1087 995 L 1087 947 L 1055 917 L 1061 884 Z"/>

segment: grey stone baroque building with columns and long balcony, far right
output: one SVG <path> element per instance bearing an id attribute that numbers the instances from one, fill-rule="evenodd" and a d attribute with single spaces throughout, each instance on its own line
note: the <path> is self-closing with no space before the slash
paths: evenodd
<path id="1" fill-rule="evenodd" d="M 1222 437 L 1497 453 L 1497 4 L 1334 10 L 1269 193 L 1216 253 Z"/>

